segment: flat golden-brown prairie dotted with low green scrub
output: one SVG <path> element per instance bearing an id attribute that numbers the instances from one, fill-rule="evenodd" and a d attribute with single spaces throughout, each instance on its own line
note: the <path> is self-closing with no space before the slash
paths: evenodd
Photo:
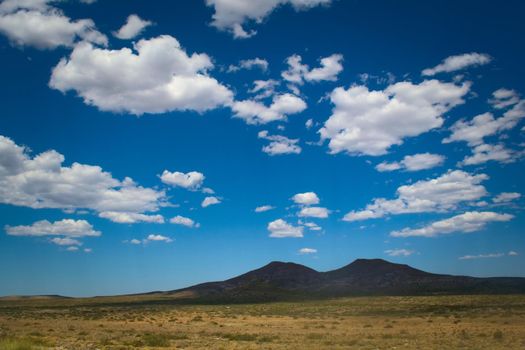
<path id="1" fill-rule="evenodd" d="M 0 301 L 0 349 L 524 349 L 524 295 Z"/>

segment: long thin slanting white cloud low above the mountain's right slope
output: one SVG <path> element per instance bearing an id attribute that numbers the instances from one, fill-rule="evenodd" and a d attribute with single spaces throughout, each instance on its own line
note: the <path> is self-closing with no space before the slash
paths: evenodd
<path id="1" fill-rule="evenodd" d="M 404 228 L 390 233 L 392 237 L 435 237 L 454 232 L 470 233 L 482 230 L 490 222 L 506 222 L 513 218 L 510 214 L 491 211 L 470 211 L 448 219 L 439 220 L 418 229 Z"/>

